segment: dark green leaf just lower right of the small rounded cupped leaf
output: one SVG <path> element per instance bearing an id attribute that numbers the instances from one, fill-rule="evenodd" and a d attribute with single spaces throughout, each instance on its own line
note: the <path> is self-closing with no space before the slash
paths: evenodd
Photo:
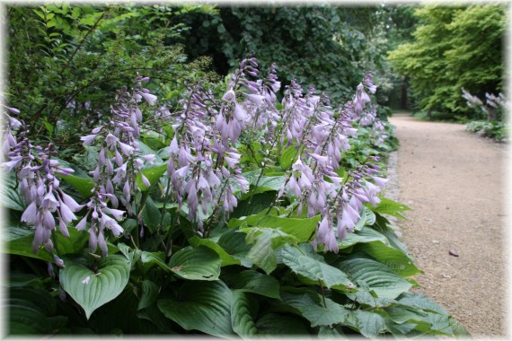
<path id="1" fill-rule="evenodd" d="M 225 284 L 237 291 L 257 293 L 262 296 L 280 299 L 279 282 L 271 275 L 263 275 L 258 271 L 244 270 L 223 277 Z"/>

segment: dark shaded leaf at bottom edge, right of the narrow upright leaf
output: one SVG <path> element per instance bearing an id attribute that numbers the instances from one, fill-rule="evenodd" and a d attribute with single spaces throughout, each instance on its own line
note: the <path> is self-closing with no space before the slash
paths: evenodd
<path id="1" fill-rule="evenodd" d="M 308 335 L 310 332 L 306 327 L 306 320 L 283 314 L 267 313 L 256 321 L 259 335 L 272 337 L 281 335 Z"/>

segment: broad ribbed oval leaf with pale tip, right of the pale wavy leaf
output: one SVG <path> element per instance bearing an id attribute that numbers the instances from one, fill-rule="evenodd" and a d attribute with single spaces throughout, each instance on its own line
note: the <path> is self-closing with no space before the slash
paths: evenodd
<path id="1" fill-rule="evenodd" d="M 396 275 L 388 267 L 368 258 L 352 258 L 339 262 L 336 267 L 349 275 L 354 283 L 367 285 L 379 298 L 394 299 L 409 291 L 412 284 Z"/>

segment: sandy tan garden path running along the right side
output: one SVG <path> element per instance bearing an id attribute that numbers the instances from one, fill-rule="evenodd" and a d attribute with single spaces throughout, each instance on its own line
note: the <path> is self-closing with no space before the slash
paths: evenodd
<path id="1" fill-rule="evenodd" d="M 507 147 L 459 124 L 404 114 L 390 121 L 401 144 L 390 177 L 396 172 L 398 199 L 411 208 L 398 225 L 424 271 L 414 290 L 444 306 L 472 337 L 505 337 Z"/>

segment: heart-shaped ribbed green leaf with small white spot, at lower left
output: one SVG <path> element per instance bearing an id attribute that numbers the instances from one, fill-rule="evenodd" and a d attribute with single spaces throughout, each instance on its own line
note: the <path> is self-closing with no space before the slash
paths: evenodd
<path id="1" fill-rule="evenodd" d="M 123 256 L 102 258 L 96 273 L 71 258 L 65 258 L 65 264 L 60 270 L 60 284 L 84 309 L 87 319 L 94 310 L 115 299 L 128 284 L 131 264 Z"/>

